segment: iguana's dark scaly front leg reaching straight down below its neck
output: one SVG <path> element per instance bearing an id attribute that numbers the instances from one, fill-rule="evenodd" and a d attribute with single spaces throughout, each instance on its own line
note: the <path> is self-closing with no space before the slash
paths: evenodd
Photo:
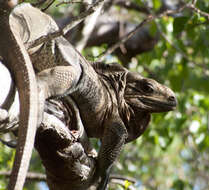
<path id="1" fill-rule="evenodd" d="M 96 171 L 96 178 L 101 177 L 101 182 L 97 190 L 106 189 L 112 164 L 119 156 L 128 136 L 126 127 L 120 119 L 116 120 L 113 118 L 105 125 Z"/>

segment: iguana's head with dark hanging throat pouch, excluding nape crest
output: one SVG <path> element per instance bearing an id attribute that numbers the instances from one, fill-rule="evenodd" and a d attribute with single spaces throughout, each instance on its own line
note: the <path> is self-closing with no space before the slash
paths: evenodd
<path id="1" fill-rule="evenodd" d="M 146 130 L 151 113 L 174 110 L 175 94 L 153 79 L 128 72 L 124 92 L 125 105 L 122 118 L 128 130 L 126 143 L 137 139 Z"/>

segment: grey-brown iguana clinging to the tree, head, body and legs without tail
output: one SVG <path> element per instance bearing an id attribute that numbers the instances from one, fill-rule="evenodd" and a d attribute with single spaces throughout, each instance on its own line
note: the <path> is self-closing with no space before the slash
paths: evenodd
<path id="1" fill-rule="evenodd" d="M 30 4 L 18 6 L 11 23 L 25 44 L 58 30 L 51 17 Z M 88 136 L 101 139 L 95 172 L 95 179 L 101 176 L 100 190 L 105 189 L 123 145 L 146 129 L 150 113 L 176 107 L 169 88 L 120 65 L 90 64 L 62 36 L 27 51 L 38 73 L 41 103 L 49 97 L 71 96 Z"/>

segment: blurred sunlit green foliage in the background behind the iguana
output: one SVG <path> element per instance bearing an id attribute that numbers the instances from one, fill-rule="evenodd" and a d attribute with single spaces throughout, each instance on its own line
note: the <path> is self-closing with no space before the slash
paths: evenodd
<path id="1" fill-rule="evenodd" d="M 132 2 L 149 6 L 155 13 L 162 7 L 160 0 Z M 197 1 L 196 7 L 209 13 L 208 0 Z M 70 4 L 51 8 L 49 12 L 57 17 L 67 10 L 78 14 L 78 8 L 79 5 Z M 136 21 L 145 18 L 137 12 L 132 15 Z M 138 55 L 130 64 L 131 70 L 146 77 L 152 74 L 156 80 L 173 89 L 178 97 L 178 108 L 169 113 L 153 114 L 145 134 L 127 144 L 115 164 L 114 172 L 134 177 L 138 190 L 209 189 L 208 22 L 207 18 L 189 9 L 153 21 L 150 34 L 159 35 L 159 42 L 152 51 Z M 96 56 L 106 48 L 103 44 L 83 52 Z M 107 62 L 112 59 L 117 60 L 117 57 L 112 56 Z M 0 145 L 1 170 L 11 168 L 12 155 L 8 148 Z M 37 157 L 31 161 L 31 170 L 42 171 Z M 34 186 L 26 187 L 35 189 Z M 2 177 L 1 189 L 5 189 Z"/>

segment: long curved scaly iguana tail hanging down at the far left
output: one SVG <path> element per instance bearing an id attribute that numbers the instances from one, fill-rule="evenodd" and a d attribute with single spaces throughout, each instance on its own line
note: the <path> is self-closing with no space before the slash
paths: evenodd
<path id="1" fill-rule="evenodd" d="M 14 75 L 20 99 L 18 146 L 8 190 L 21 190 L 32 154 L 37 127 L 38 97 L 35 73 L 29 55 L 9 23 L 12 1 L 0 0 L 0 51 Z"/>

